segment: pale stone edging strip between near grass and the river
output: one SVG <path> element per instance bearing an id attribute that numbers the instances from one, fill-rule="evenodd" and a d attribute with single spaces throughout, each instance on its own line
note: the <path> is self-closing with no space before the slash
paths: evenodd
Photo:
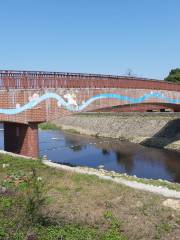
<path id="1" fill-rule="evenodd" d="M 94 169 L 94 168 L 88 168 L 88 167 L 70 167 L 67 165 L 53 163 L 48 160 L 44 160 L 43 163 L 47 166 L 54 167 L 57 169 L 97 176 L 100 179 L 110 180 L 112 182 L 123 184 L 125 186 L 131 187 L 134 189 L 147 191 L 154 194 L 159 194 L 164 197 L 180 199 L 179 183 L 171 183 L 166 180 L 160 180 L 160 179 L 154 180 L 154 179 L 138 178 L 136 176 L 128 176 L 127 174 L 120 174 L 114 171 L 106 171 L 104 169 Z M 179 209 L 180 209 L 180 201 L 179 201 Z"/>

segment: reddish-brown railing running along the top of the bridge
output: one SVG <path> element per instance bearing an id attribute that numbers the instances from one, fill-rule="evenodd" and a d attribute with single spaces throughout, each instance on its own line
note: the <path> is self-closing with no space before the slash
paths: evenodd
<path id="1" fill-rule="evenodd" d="M 0 71 L 0 89 L 139 88 L 180 91 L 180 84 L 129 76 Z"/>

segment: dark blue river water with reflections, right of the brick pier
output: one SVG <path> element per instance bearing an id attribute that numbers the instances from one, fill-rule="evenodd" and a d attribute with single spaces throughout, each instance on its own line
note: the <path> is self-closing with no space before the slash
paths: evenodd
<path id="1" fill-rule="evenodd" d="M 54 162 L 94 168 L 103 165 L 110 171 L 180 182 L 178 152 L 61 131 L 40 131 L 39 138 L 40 154 Z"/>

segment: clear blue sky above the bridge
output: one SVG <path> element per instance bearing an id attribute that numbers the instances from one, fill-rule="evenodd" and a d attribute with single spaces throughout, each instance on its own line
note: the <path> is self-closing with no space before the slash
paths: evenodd
<path id="1" fill-rule="evenodd" d="M 0 69 L 164 79 L 180 67 L 180 0 L 0 0 Z"/>

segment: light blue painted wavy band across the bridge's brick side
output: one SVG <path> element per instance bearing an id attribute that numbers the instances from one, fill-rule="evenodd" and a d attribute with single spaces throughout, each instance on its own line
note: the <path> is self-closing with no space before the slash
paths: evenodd
<path id="1" fill-rule="evenodd" d="M 7 115 L 18 114 L 18 113 L 21 113 L 21 112 L 26 111 L 28 109 L 32 109 L 33 107 L 35 107 L 36 105 L 38 105 L 39 103 L 41 103 L 41 102 L 43 102 L 47 99 L 55 99 L 55 100 L 57 100 L 59 106 L 62 106 L 69 111 L 78 112 L 78 111 L 82 111 L 88 105 L 90 105 L 92 102 L 94 102 L 96 100 L 99 100 L 99 99 L 117 99 L 119 101 L 127 101 L 129 103 L 137 104 L 137 103 L 142 103 L 142 102 L 144 102 L 148 99 L 151 99 L 151 98 L 162 99 L 166 103 L 172 103 L 172 104 L 180 103 L 180 99 L 169 98 L 169 97 L 166 97 L 162 93 L 151 92 L 151 93 L 144 94 L 143 96 L 138 97 L 138 98 L 132 98 L 132 97 L 129 97 L 129 96 L 124 96 L 124 95 L 115 94 L 115 93 L 102 93 L 102 94 L 98 94 L 96 96 L 93 96 L 93 97 L 89 98 L 87 101 L 85 101 L 81 105 L 72 106 L 68 102 L 66 102 L 61 96 L 59 96 L 56 93 L 45 93 L 44 95 L 38 97 L 37 99 L 34 99 L 34 100 L 32 100 L 32 101 L 30 101 L 30 102 L 26 103 L 25 105 L 20 106 L 18 108 L 0 109 L 0 113 L 1 114 L 7 114 Z"/>

